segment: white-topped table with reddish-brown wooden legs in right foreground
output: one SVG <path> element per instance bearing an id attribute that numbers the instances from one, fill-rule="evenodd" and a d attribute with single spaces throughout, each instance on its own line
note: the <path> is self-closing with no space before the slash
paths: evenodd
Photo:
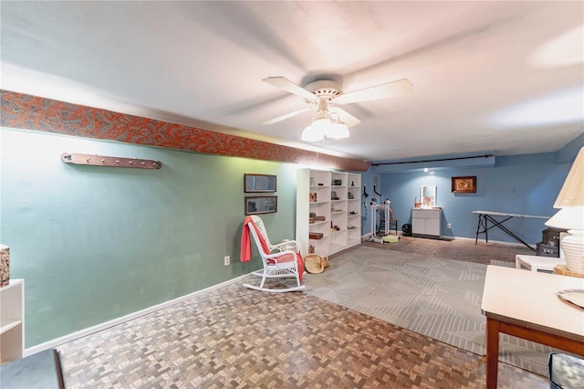
<path id="1" fill-rule="evenodd" d="M 499 332 L 584 355 L 584 309 L 558 297 L 584 279 L 489 265 L 481 310 L 486 316 L 486 387 L 496 388 Z"/>

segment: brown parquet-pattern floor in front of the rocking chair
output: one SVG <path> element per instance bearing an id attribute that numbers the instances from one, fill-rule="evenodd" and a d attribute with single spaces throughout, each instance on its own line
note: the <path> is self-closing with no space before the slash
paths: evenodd
<path id="1" fill-rule="evenodd" d="M 68 388 L 485 387 L 481 355 L 308 293 L 268 294 L 240 283 L 58 350 Z M 548 384 L 500 363 L 499 387 Z"/>

